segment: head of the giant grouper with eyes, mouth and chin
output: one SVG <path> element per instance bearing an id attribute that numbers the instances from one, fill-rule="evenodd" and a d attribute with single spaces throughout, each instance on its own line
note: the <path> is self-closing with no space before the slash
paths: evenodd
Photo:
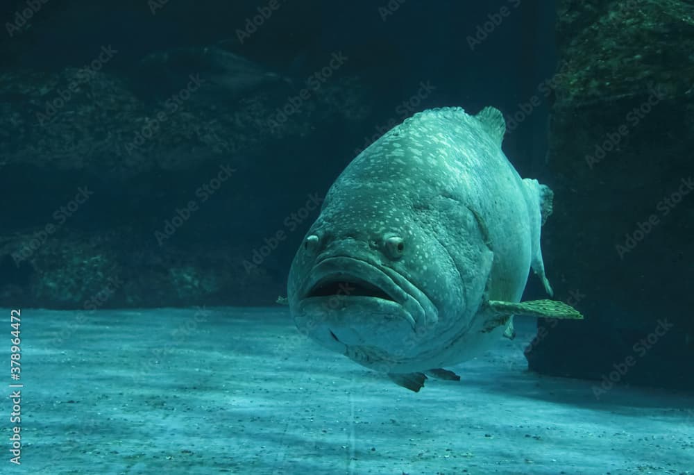
<path id="1" fill-rule="evenodd" d="M 402 371 L 438 351 L 464 311 L 464 283 L 428 206 L 360 198 L 368 204 L 326 197 L 291 265 L 289 307 L 324 347 Z"/>

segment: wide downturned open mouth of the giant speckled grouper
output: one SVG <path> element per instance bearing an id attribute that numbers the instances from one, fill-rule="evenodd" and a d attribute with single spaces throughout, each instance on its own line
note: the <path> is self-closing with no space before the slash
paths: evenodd
<path id="1" fill-rule="evenodd" d="M 343 306 L 353 304 L 364 308 L 370 302 L 378 303 L 381 308 L 397 310 L 413 329 L 423 326 L 427 314 L 434 309 L 431 301 L 399 272 L 347 256 L 321 260 L 314 265 L 301 288 L 298 296 L 302 307 L 312 303 L 330 306 L 339 302 Z"/>

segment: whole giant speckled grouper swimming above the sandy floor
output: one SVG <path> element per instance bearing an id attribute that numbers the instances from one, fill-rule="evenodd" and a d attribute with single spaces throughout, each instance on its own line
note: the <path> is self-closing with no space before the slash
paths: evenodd
<path id="1" fill-rule="evenodd" d="M 531 267 L 552 295 L 540 227 L 553 194 L 518 175 L 505 131 L 496 108 L 425 110 L 359 153 L 291 264 L 299 331 L 418 391 L 512 338 L 513 315 L 583 318 L 559 301 L 519 303 Z"/>

